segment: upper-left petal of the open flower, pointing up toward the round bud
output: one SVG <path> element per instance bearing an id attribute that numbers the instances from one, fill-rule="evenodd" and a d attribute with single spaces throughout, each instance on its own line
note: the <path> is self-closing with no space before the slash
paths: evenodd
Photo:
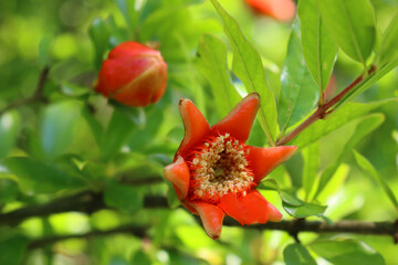
<path id="1" fill-rule="evenodd" d="M 179 109 L 185 127 L 185 136 L 176 156 L 185 157 L 190 148 L 195 147 L 209 132 L 209 124 L 193 103 L 187 98 L 180 99 Z"/>

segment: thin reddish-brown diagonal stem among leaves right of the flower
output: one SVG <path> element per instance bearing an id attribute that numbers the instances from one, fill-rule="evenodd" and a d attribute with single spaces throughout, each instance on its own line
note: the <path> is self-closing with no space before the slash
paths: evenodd
<path id="1" fill-rule="evenodd" d="M 376 67 L 371 66 L 368 71 L 367 75 L 375 72 Z M 367 76 L 366 75 L 366 76 Z M 364 75 L 357 77 L 353 83 L 350 83 L 346 88 L 344 88 L 341 93 L 338 93 L 334 98 L 327 102 L 323 106 L 318 106 L 318 108 L 307 119 L 305 119 L 301 125 L 298 125 L 294 130 L 292 130 L 289 135 L 276 141 L 276 146 L 284 146 L 290 142 L 294 137 L 301 134 L 305 128 L 315 123 L 318 119 L 322 119 L 331 113 L 331 108 L 336 105 L 339 100 L 344 98 L 355 86 L 357 86 L 360 82 L 363 82 Z"/>

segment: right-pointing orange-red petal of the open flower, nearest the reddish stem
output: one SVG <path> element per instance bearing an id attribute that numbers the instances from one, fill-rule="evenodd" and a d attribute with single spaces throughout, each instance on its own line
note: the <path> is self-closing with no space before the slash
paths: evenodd
<path id="1" fill-rule="evenodd" d="M 253 170 L 254 182 L 259 183 L 269 172 L 274 168 L 286 161 L 293 156 L 296 146 L 280 146 L 280 147 L 252 147 L 248 146 L 249 167 Z"/>

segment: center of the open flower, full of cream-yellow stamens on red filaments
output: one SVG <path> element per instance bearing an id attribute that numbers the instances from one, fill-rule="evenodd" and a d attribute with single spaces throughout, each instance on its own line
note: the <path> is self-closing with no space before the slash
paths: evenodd
<path id="1" fill-rule="evenodd" d="M 229 134 L 206 141 L 189 162 L 190 199 L 218 202 L 230 192 L 245 195 L 255 186 L 248 168 L 247 149 Z"/>

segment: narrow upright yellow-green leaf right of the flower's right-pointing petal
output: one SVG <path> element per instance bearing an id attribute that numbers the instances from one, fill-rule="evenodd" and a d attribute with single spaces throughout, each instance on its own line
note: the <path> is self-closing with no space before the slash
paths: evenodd
<path id="1" fill-rule="evenodd" d="M 310 198 L 313 190 L 317 169 L 320 167 L 320 142 L 316 141 L 303 149 L 302 151 L 304 168 L 303 168 L 303 188 L 305 192 L 305 200 Z"/>

